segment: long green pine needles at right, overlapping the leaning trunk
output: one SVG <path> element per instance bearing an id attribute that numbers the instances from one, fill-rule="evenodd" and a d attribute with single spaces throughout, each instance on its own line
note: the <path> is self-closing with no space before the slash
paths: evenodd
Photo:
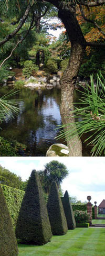
<path id="1" fill-rule="evenodd" d="M 61 128 L 66 128 L 66 131 L 61 131 L 61 134 L 58 138 L 64 138 L 66 135 L 66 140 L 74 138 L 77 134 L 81 137 L 83 133 L 88 133 L 86 141 L 89 141 L 88 144 L 93 145 L 91 149 L 92 156 L 105 156 L 104 150 L 104 138 L 105 138 L 105 104 L 104 104 L 104 84 L 105 79 L 103 76 L 97 75 L 97 84 L 96 88 L 93 81 L 93 76 L 90 76 L 91 85 L 87 84 L 86 88 L 82 87 L 82 97 L 75 110 L 72 111 L 74 118 L 77 121 L 76 129 L 72 123 L 61 125 Z M 101 90 L 100 90 L 101 86 Z M 80 121 L 81 119 L 81 121 Z M 74 142 L 75 143 L 75 142 Z"/>

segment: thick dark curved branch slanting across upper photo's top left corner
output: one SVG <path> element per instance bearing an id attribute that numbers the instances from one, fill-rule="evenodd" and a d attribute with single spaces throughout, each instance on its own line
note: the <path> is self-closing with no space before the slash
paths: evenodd
<path id="1" fill-rule="evenodd" d="M 3 45 L 4 43 L 6 43 L 7 41 L 9 41 L 10 39 L 12 39 L 14 37 L 14 35 L 16 35 L 16 33 L 22 28 L 23 24 L 25 23 L 25 21 L 27 19 L 29 11 L 30 11 L 30 5 L 27 6 L 25 14 L 24 14 L 23 18 L 21 19 L 21 21 L 20 21 L 19 25 L 17 26 L 17 28 L 12 33 L 8 34 L 5 37 L 5 39 L 3 39 L 0 42 L 0 46 Z"/>

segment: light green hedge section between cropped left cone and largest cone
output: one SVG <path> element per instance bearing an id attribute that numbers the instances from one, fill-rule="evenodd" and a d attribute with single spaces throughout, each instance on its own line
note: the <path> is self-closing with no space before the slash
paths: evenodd
<path id="1" fill-rule="evenodd" d="M 15 228 L 19 209 L 22 204 L 25 191 L 19 190 L 17 188 L 8 187 L 6 185 L 1 185 L 1 186 L 3 188 L 3 193 L 6 199 L 9 214 L 12 218 L 13 226 Z"/>

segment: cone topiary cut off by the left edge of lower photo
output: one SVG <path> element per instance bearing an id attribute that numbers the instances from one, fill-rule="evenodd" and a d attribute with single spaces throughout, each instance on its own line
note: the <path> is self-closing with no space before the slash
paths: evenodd
<path id="1" fill-rule="evenodd" d="M 0 255 L 17 256 L 18 248 L 6 199 L 0 185 Z"/>

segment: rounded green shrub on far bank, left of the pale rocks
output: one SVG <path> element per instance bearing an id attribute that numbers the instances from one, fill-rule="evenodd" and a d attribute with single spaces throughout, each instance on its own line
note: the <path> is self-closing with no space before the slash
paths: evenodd
<path id="1" fill-rule="evenodd" d="M 36 66 L 32 60 L 26 60 L 24 62 L 23 75 L 29 78 L 33 72 L 36 72 L 38 69 L 38 66 Z"/>

